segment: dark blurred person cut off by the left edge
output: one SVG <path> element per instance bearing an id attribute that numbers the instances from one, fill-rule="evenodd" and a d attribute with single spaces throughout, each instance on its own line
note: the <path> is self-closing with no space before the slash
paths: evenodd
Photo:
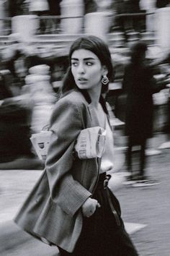
<path id="1" fill-rule="evenodd" d="M 0 163 L 34 156 L 30 143 L 31 106 L 27 98 L 16 96 L 15 93 L 9 70 L 1 70 Z"/>

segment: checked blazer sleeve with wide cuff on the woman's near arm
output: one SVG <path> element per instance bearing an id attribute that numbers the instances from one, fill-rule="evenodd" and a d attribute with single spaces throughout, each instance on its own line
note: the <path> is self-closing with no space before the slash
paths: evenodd
<path id="1" fill-rule="evenodd" d="M 68 98 L 58 101 L 51 118 L 52 137 L 45 168 L 52 200 L 71 216 L 91 196 L 71 174 L 73 147 L 81 129 L 84 128 L 76 103 Z"/>

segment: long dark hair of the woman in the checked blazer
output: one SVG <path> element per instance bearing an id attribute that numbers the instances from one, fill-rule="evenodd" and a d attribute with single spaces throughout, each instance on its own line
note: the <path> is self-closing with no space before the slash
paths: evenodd
<path id="1" fill-rule="evenodd" d="M 74 51 L 79 49 L 85 49 L 93 52 L 101 61 L 101 64 L 107 67 L 108 74 L 107 77 L 109 80 L 113 79 L 113 67 L 112 67 L 112 59 L 109 52 L 109 48 L 106 43 L 97 36 L 89 35 L 76 39 L 71 45 L 69 51 L 69 67 L 66 72 L 65 77 L 63 78 L 63 86 L 61 88 L 61 93 L 66 93 L 68 90 L 73 88 L 77 88 L 76 82 L 73 78 L 73 74 L 71 72 L 71 56 Z M 102 93 L 108 90 L 108 85 L 102 85 Z"/>

